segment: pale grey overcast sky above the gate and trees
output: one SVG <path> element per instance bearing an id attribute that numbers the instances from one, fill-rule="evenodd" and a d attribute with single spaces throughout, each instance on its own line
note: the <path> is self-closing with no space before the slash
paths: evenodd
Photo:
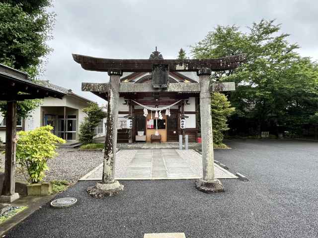
<path id="1" fill-rule="evenodd" d="M 164 59 L 202 40 L 218 24 L 246 30 L 262 18 L 282 23 L 299 53 L 318 60 L 316 0 L 55 0 L 54 49 L 42 79 L 81 92 L 81 82 L 106 82 L 107 73 L 83 70 L 72 53 L 115 59 L 148 59 L 155 46 Z"/>

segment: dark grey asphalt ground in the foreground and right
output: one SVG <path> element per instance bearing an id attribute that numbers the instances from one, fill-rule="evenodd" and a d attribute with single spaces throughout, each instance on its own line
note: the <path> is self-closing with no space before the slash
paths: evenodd
<path id="1" fill-rule="evenodd" d="M 94 199 L 80 181 L 58 195 L 78 203 L 45 205 L 8 238 L 142 238 L 184 232 L 186 238 L 317 238 L 318 144 L 234 141 L 215 158 L 250 181 L 222 180 L 226 192 L 205 194 L 193 180 L 121 181 L 118 196 Z"/>

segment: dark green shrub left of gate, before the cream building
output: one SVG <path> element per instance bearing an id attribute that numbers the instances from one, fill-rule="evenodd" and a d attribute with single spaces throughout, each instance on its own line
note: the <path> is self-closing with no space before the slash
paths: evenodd
<path id="1" fill-rule="evenodd" d="M 87 117 L 79 126 L 79 141 L 83 144 L 90 144 L 95 136 L 95 128 L 100 120 L 106 117 L 106 113 L 98 107 L 97 103 L 93 102 L 84 108 L 83 112 L 87 114 Z"/>

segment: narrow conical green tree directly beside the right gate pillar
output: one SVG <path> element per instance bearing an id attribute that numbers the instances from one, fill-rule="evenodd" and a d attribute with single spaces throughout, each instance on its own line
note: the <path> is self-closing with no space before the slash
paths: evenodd
<path id="1" fill-rule="evenodd" d="M 224 132 L 229 130 L 227 121 L 228 117 L 234 113 L 235 108 L 231 107 L 228 98 L 219 92 L 211 93 L 211 112 L 212 112 L 212 128 L 213 143 L 222 144 Z"/>

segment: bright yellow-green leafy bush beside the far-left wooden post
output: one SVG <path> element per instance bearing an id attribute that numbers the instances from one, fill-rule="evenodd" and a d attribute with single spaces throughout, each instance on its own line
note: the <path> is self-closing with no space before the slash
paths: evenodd
<path id="1" fill-rule="evenodd" d="M 20 131 L 16 144 L 16 162 L 27 171 L 31 183 L 38 183 L 45 177 L 49 169 L 47 160 L 55 157 L 56 144 L 65 140 L 51 133 L 52 126 L 36 128 L 32 131 Z"/>

